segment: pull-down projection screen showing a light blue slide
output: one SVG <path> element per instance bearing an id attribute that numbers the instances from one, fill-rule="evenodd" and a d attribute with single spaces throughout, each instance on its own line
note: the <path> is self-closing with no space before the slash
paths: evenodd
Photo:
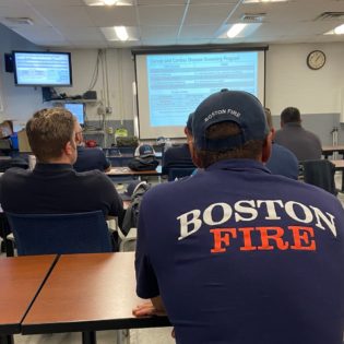
<path id="1" fill-rule="evenodd" d="M 135 63 L 141 139 L 185 138 L 189 114 L 222 88 L 264 100 L 264 50 L 137 52 Z"/>

